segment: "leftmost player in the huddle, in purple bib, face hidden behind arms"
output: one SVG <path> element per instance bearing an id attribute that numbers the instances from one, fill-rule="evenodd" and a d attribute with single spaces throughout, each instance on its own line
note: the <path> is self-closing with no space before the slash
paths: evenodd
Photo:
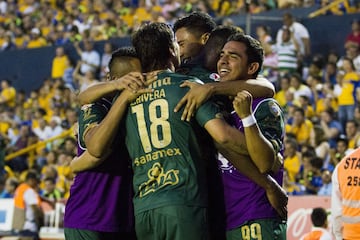
<path id="1" fill-rule="evenodd" d="M 105 118 L 117 113 L 117 108 L 111 108 L 111 98 L 101 96 L 113 95 L 128 85 L 141 85 L 143 79 L 140 73 L 134 73 L 141 71 L 141 66 L 132 48 L 115 51 L 109 69 L 110 77 L 122 78 L 114 83 L 94 86 L 97 92 L 89 89 L 83 93 L 83 102 L 98 100 L 83 105 L 79 117 L 79 158 L 71 163 L 77 174 L 64 217 L 67 240 L 135 239 L 130 159 L 120 124 L 108 124 L 106 128 L 100 124 L 106 124 Z M 104 140 L 104 134 L 107 140 Z"/>

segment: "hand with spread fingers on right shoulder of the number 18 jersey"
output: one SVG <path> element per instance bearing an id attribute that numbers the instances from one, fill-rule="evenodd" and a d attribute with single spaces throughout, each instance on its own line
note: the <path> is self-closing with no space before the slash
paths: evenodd
<path id="1" fill-rule="evenodd" d="M 175 106 L 174 112 L 178 112 L 185 105 L 181 120 L 189 122 L 195 111 L 211 96 L 211 88 L 206 84 L 190 81 L 185 81 L 180 87 L 189 87 L 190 90 Z"/>

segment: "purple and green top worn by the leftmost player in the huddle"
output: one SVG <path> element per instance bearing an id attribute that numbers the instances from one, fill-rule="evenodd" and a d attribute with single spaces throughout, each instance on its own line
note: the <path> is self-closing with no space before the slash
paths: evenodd
<path id="1" fill-rule="evenodd" d="M 111 102 L 101 99 L 84 105 L 79 117 L 78 155 L 86 150 L 83 132 L 86 126 L 105 118 Z M 93 231 L 129 231 L 132 227 L 132 173 L 129 157 L 123 146 L 124 137 L 117 136 L 117 145 L 104 162 L 76 174 L 65 209 L 64 224 L 67 228 Z M 120 142 L 120 144 L 119 144 Z"/>

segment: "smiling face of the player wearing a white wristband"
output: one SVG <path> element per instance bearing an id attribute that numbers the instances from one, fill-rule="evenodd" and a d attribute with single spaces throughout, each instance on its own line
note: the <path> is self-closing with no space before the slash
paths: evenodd
<path id="1" fill-rule="evenodd" d="M 248 74 L 248 58 L 246 46 L 237 41 L 227 42 L 217 63 L 217 70 L 221 81 L 246 79 Z"/>

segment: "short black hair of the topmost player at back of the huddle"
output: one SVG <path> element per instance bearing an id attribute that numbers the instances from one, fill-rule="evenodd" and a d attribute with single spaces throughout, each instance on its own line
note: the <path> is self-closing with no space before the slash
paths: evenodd
<path id="1" fill-rule="evenodd" d="M 174 32 L 180 28 L 186 28 L 189 32 L 200 37 L 204 33 L 210 33 L 215 27 L 216 22 L 207 13 L 192 12 L 189 15 L 179 18 L 174 23 Z"/>

